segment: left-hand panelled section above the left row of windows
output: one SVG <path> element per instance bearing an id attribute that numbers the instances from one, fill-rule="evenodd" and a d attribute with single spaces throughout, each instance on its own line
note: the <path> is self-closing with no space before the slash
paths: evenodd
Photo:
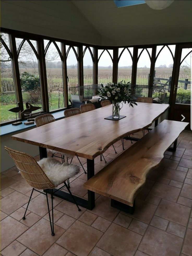
<path id="1" fill-rule="evenodd" d="M 1 0 L 1 27 L 100 44 L 100 34 L 71 1 Z"/>

